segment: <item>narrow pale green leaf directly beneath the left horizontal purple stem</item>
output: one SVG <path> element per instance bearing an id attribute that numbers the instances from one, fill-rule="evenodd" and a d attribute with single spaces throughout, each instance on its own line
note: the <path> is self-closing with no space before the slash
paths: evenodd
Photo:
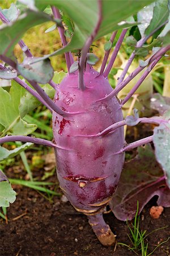
<path id="1" fill-rule="evenodd" d="M 0 146 L 0 161 L 7 159 L 7 158 L 14 158 L 14 156 L 20 154 L 24 150 L 27 150 L 33 145 L 33 143 L 25 143 L 20 147 L 16 147 L 14 150 L 7 150 L 5 147 Z"/>

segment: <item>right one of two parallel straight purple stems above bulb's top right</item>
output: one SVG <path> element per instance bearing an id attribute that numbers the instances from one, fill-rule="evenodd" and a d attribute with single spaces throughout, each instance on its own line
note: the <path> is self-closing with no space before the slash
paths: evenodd
<path id="1" fill-rule="evenodd" d="M 123 42 L 123 40 L 124 40 L 124 37 L 125 37 L 125 35 L 126 35 L 126 32 L 127 32 L 127 29 L 125 29 L 125 30 L 123 30 L 123 31 L 121 32 L 120 38 L 118 39 L 118 41 L 117 41 L 117 43 L 116 43 L 116 46 L 115 46 L 115 48 L 114 48 L 114 51 L 113 51 L 113 53 L 112 53 L 112 57 L 111 57 L 111 59 L 109 60 L 109 63 L 108 63 L 108 65 L 107 65 L 107 68 L 105 69 L 105 71 L 104 71 L 104 73 L 103 73 L 103 76 L 104 76 L 104 77 L 108 77 L 109 72 L 111 71 L 111 68 L 112 68 L 112 66 L 113 66 L 114 60 L 116 59 L 117 53 L 118 53 L 118 51 L 119 51 L 119 49 L 120 49 L 120 47 L 121 47 L 121 44 L 122 44 L 122 42 Z"/>

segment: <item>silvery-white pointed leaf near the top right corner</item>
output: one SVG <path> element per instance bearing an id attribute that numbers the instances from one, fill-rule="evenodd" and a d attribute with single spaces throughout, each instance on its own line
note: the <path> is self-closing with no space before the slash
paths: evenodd
<path id="1" fill-rule="evenodd" d="M 151 3 L 151 5 L 145 6 L 137 14 L 137 20 L 139 23 L 141 23 L 141 24 L 138 24 L 138 28 L 141 36 L 145 36 L 145 30 L 151 22 L 151 19 L 154 13 L 154 5 L 155 3 Z"/>

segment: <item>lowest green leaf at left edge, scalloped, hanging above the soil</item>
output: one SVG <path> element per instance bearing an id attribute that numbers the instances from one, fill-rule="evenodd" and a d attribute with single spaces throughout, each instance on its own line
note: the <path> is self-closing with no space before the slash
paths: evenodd
<path id="1" fill-rule="evenodd" d="M 0 170 L 0 207 L 9 207 L 15 199 L 16 192 L 12 189 L 5 174 Z"/>

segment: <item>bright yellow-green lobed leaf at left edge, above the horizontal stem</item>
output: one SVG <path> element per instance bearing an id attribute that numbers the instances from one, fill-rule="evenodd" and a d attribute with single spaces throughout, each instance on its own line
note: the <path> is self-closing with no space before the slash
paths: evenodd
<path id="1" fill-rule="evenodd" d="M 28 135 L 36 130 L 37 126 L 28 124 L 20 118 L 18 106 L 25 89 L 13 81 L 10 92 L 0 87 L 0 123 L 5 127 L 3 136 L 7 133 L 12 135 Z"/>

